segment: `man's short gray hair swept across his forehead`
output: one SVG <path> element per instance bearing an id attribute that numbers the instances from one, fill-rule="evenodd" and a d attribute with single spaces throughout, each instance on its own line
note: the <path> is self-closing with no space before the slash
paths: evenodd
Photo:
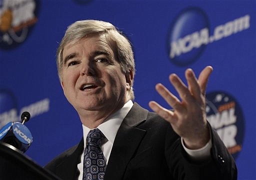
<path id="1" fill-rule="evenodd" d="M 115 26 L 109 22 L 100 20 L 79 20 L 68 26 L 57 48 L 56 64 L 60 81 L 62 81 L 61 72 L 63 67 L 64 46 L 69 42 L 76 43 L 81 38 L 93 33 L 105 33 L 109 44 L 113 44 L 112 50 L 114 51 L 117 62 L 120 64 L 121 71 L 126 74 L 131 70 L 133 74 L 135 74 L 135 63 L 131 43 L 122 32 L 117 30 Z M 129 90 L 131 100 L 134 99 L 132 85 L 133 81 L 131 82 L 131 88 Z"/>

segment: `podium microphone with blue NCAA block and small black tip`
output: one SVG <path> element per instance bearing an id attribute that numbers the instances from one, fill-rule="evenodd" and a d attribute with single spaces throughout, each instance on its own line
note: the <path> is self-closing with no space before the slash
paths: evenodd
<path id="1" fill-rule="evenodd" d="M 25 152 L 33 141 L 29 129 L 24 125 L 30 118 L 27 111 L 21 114 L 20 122 L 9 122 L 0 129 L 0 141 L 10 144 L 17 149 Z"/>

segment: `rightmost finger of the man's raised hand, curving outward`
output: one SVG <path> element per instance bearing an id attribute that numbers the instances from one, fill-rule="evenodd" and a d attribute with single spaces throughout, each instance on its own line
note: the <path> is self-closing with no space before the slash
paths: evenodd
<path id="1" fill-rule="evenodd" d="M 201 88 L 201 93 L 205 95 L 206 87 L 207 87 L 207 82 L 209 79 L 209 76 L 212 72 L 213 68 L 211 66 L 206 66 L 200 73 L 198 77 L 198 83 Z"/>

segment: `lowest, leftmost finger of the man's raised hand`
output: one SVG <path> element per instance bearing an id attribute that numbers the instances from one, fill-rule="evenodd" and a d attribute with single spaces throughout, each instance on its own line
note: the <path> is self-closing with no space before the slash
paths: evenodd
<path id="1" fill-rule="evenodd" d="M 155 101 L 149 101 L 148 105 L 159 116 L 161 116 L 162 118 L 164 118 L 165 120 L 167 120 L 170 123 L 175 123 L 176 118 L 175 118 L 174 113 L 172 111 L 162 107 L 161 105 L 159 105 Z"/>

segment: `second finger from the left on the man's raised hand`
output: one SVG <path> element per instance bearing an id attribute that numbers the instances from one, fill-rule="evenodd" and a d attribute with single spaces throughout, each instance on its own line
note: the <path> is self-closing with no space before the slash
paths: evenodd
<path id="1" fill-rule="evenodd" d="M 175 110 L 181 111 L 183 106 L 179 99 L 173 95 L 164 85 L 158 83 L 155 85 L 156 91 L 164 98 L 164 100 Z"/>

